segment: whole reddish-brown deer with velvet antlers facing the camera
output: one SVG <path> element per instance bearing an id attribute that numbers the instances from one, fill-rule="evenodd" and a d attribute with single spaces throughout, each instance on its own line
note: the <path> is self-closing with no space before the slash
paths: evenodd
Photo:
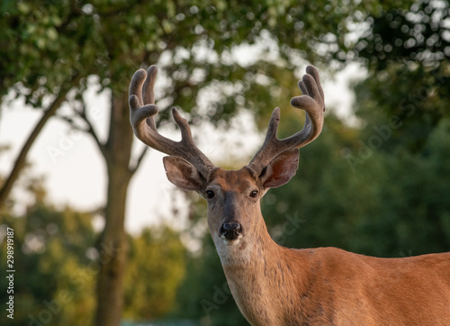
<path id="1" fill-rule="evenodd" d="M 139 69 L 130 83 L 130 122 L 139 140 L 169 156 L 167 178 L 208 203 L 208 226 L 229 288 L 252 325 L 450 326 L 450 252 L 410 258 L 373 258 L 336 248 L 287 249 L 266 229 L 259 201 L 283 186 L 298 168 L 299 148 L 319 136 L 325 109 L 318 70 L 306 69 L 302 131 L 276 138 L 275 109 L 266 140 L 237 171 L 215 168 L 194 142 L 188 123 L 173 109 L 182 140 L 157 132 L 153 87 L 157 68 Z"/>

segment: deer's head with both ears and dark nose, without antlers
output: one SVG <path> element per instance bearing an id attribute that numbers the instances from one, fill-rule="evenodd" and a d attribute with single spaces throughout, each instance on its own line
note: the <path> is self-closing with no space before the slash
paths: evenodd
<path id="1" fill-rule="evenodd" d="M 208 226 L 219 249 L 253 237 L 264 224 L 260 198 L 269 188 L 282 186 L 295 175 L 298 159 L 299 150 L 288 149 L 272 159 L 259 176 L 246 166 L 237 171 L 214 168 L 207 179 L 183 158 L 166 157 L 164 166 L 175 186 L 194 190 L 206 199 Z"/>

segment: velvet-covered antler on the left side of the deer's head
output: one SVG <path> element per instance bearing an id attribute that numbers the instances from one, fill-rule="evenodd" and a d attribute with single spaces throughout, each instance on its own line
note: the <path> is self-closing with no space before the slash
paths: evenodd
<path id="1" fill-rule="evenodd" d="M 155 115 L 158 113 L 155 105 L 154 86 L 157 79 L 157 67 L 150 66 L 147 71 L 139 69 L 130 82 L 130 122 L 134 134 L 143 143 L 167 155 L 186 159 L 197 168 L 202 177 L 207 178 L 214 166 L 206 158 L 193 141 L 191 128 L 187 121 L 173 108 L 172 115 L 180 127 L 181 140 L 169 140 L 157 132 Z"/>

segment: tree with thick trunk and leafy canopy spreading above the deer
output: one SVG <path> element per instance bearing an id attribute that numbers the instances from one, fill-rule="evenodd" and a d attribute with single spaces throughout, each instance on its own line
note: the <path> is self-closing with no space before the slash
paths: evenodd
<path id="1" fill-rule="evenodd" d="M 19 175 L 35 135 L 70 95 L 76 109 L 63 118 L 93 137 L 108 170 L 105 227 L 99 241 L 101 257 L 107 263 L 102 265 L 98 278 L 96 323 L 117 325 L 121 319 L 121 283 L 127 252 L 123 230 L 126 191 L 146 153 L 142 151 L 138 158 L 130 155 L 133 137 L 126 87 L 133 70 L 140 64 L 158 62 L 166 77 L 166 87 L 159 96 L 162 111 L 172 104 L 181 104 L 193 122 L 199 122 L 201 117 L 226 120 L 244 107 L 263 113 L 259 99 L 271 99 L 284 90 L 275 87 L 279 71 L 297 68 L 301 58 L 326 61 L 329 53 L 342 56 L 348 25 L 377 11 L 375 4 L 376 1 L 338 1 L 335 5 L 304 1 L 299 9 L 294 1 L 194 5 L 100 0 L 5 3 L 2 27 L 6 33 L 0 39 L 0 48 L 2 58 L 7 60 L 0 66 L 2 95 L 14 87 L 35 107 L 41 107 L 48 99 L 53 105 L 48 106 L 24 145 L 1 191 L 0 204 Z M 322 18 L 320 22 L 318 16 Z M 270 41 L 266 58 L 239 65 L 233 50 L 239 44 L 261 40 Z M 271 48 L 271 44 L 275 47 Z M 98 76 L 99 83 L 111 90 L 107 140 L 99 139 L 86 113 L 82 94 L 89 75 Z M 204 93 L 212 94 L 214 101 L 201 107 L 196 103 Z M 264 103 L 264 109 L 275 106 L 269 102 Z M 160 116 L 163 119 L 158 123 L 164 124 L 167 114 Z M 102 245 L 112 246 L 111 250 L 103 250 Z"/>

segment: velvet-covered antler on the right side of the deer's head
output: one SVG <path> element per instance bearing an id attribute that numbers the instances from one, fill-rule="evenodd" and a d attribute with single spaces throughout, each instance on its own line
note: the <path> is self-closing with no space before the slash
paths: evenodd
<path id="1" fill-rule="evenodd" d="M 287 149 L 300 149 L 315 140 L 322 131 L 325 104 L 323 90 L 320 86 L 319 71 L 313 66 L 308 66 L 306 72 L 307 74 L 299 82 L 302 95 L 295 96 L 291 100 L 293 107 L 302 109 L 306 113 L 303 129 L 291 137 L 278 140 L 276 131 L 280 122 L 280 109 L 275 108 L 267 127 L 266 140 L 248 164 L 257 175 L 266 168 L 270 160 L 275 158 L 276 155 Z"/>

